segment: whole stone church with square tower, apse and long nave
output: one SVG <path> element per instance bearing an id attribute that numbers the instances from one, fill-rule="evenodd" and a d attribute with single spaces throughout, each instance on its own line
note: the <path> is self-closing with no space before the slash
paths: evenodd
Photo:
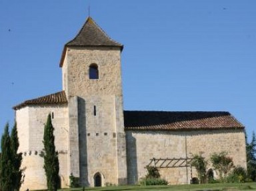
<path id="1" fill-rule="evenodd" d="M 191 154 L 199 153 L 209 159 L 225 151 L 235 165 L 247 167 L 245 127 L 229 112 L 123 110 L 122 51 L 88 17 L 64 45 L 62 91 L 13 107 L 25 168 L 21 190 L 47 188 L 40 153 L 48 114 L 62 188 L 69 187 L 71 174 L 81 186 L 137 184 L 147 165 L 159 168 L 170 184 L 189 184 L 197 176 Z"/>

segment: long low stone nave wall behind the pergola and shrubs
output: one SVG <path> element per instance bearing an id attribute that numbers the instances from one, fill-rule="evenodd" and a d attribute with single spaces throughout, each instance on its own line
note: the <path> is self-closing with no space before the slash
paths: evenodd
<path id="1" fill-rule="evenodd" d="M 203 154 L 207 160 L 213 152 L 228 152 L 235 165 L 246 168 L 243 130 L 195 131 L 126 131 L 129 184 L 136 184 L 147 174 L 151 158 L 186 158 Z M 208 169 L 211 165 L 208 166 Z M 160 174 L 171 184 L 189 184 L 191 169 L 161 168 Z M 192 176 L 197 176 L 193 169 Z"/>

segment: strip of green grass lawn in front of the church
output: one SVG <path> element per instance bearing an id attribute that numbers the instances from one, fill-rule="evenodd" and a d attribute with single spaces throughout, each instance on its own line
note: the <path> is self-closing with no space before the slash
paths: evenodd
<path id="1" fill-rule="evenodd" d="M 59 191 L 82 191 L 83 188 L 60 189 Z M 256 190 L 256 182 L 243 184 L 187 184 L 187 185 L 168 185 L 168 186 L 107 186 L 99 188 L 85 188 L 85 190 L 111 191 L 111 190 L 163 190 L 163 191 L 236 191 L 236 190 Z"/>

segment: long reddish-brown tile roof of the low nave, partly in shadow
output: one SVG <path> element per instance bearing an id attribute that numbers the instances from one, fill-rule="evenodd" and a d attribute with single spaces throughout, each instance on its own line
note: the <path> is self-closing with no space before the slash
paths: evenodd
<path id="1" fill-rule="evenodd" d="M 229 112 L 124 111 L 125 130 L 244 128 Z"/>

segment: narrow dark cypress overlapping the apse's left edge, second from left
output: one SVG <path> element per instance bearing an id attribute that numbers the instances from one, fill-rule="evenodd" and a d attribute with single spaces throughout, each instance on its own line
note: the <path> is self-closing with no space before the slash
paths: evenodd
<path id="1" fill-rule="evenodd" d="M 15 190 L 19 190 L 22 183 L 22 171 L 21 162 L 22 162 L 22 153 L 17 153 L 19 148 L 19 138 L 17 132 L 17 124 L 15 122 L 13 129 L 11 130 L 11 151 L 13 152 L 13 186 Z"/>

